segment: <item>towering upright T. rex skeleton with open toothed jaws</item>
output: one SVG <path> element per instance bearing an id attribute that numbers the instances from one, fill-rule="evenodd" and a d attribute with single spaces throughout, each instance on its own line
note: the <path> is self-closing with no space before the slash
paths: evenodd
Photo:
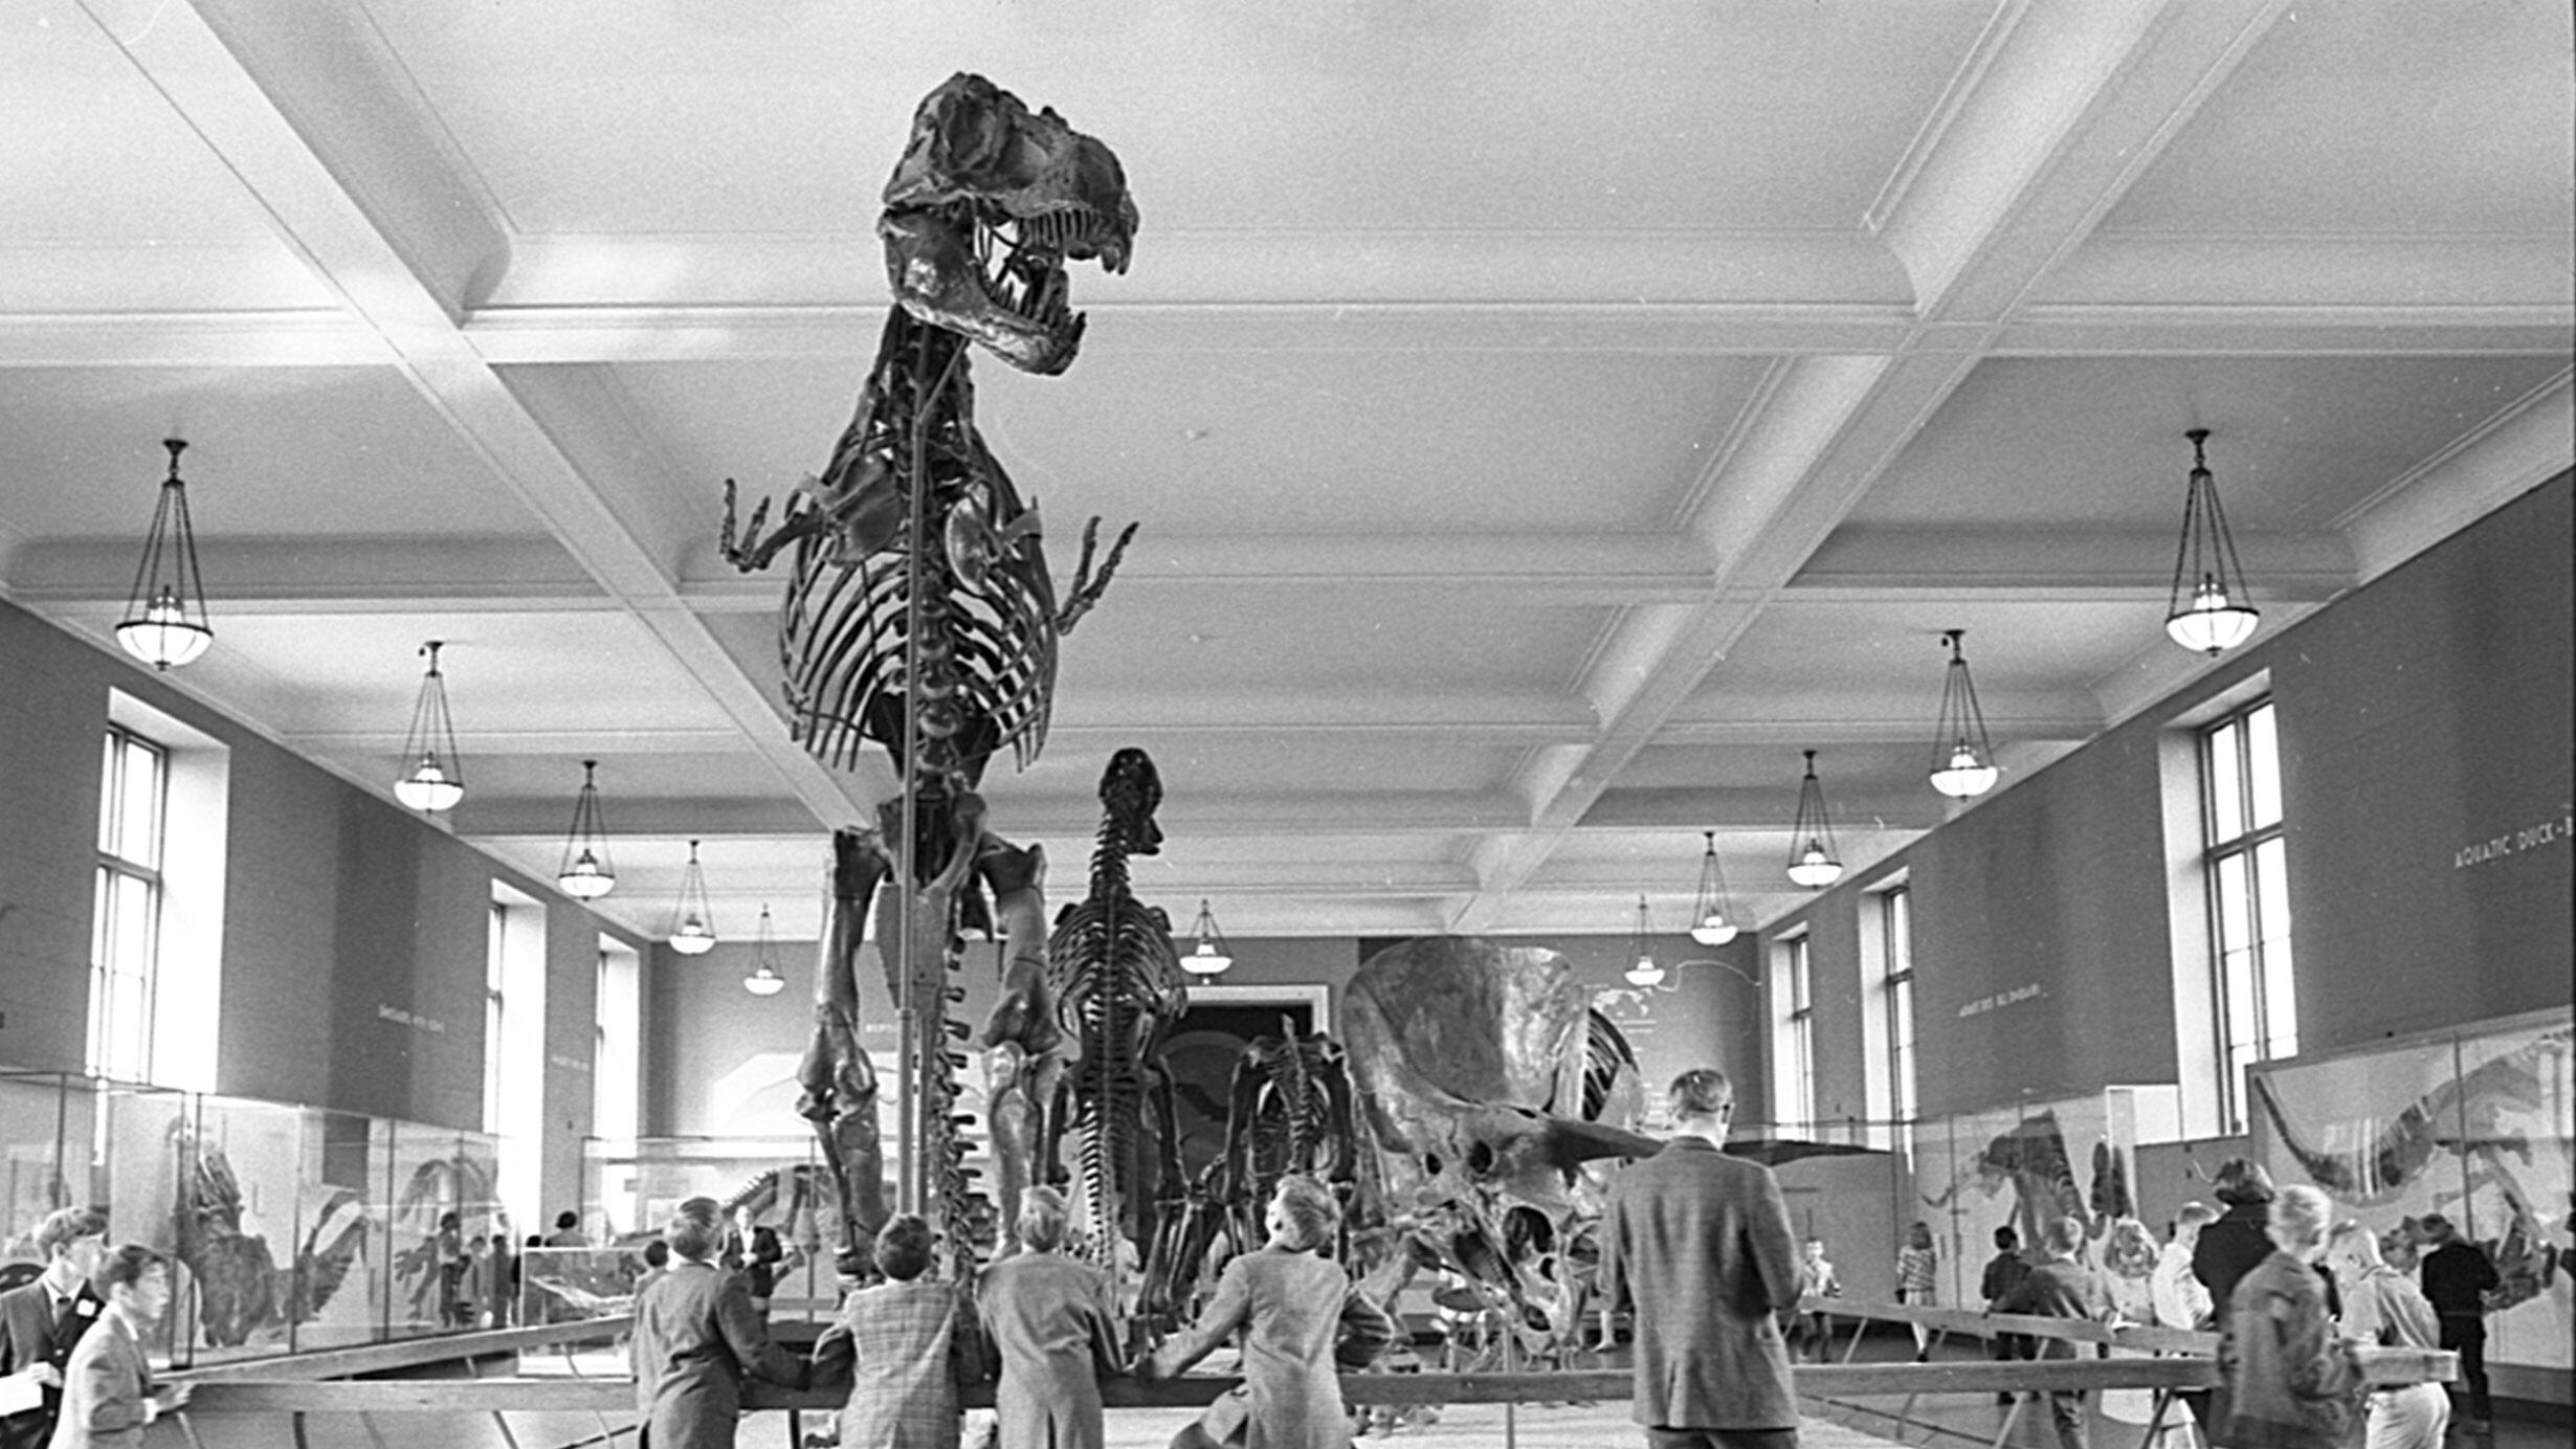
<path id="1" fill-rule="evenodd" d="M 1126 270 L 1136 237 L 1118 157 L 1054 111 L 1030 113 L 989 80 L 956 75 L 914 111 L 884 203 L 876 229 L 896 306 L 858 412 L 775 530 L 765 530 L 762 502 L 737 538 L 729 481 L 721 533 L 742 571 L 793 551 L 778 631 L 791 734 L 840 770 L 858 762 L 863 741 L 881 744 L 904 772 L 904 793 L 878 811 L 881 829 L 835 842 L 837 924 L 824 934 L 799 1073 L 801 1109 L 840 1176 L 842 1251 L 853 1256 L 881 1220 L 881 1153 L 863 1109 L 876 1084 L 850 986 L 858 919 L 881 880 L 904 883 L 907 903 L 878 934 L 907 1019 L 912 1140 L 902 1166 L 914 1176 L 904 1197 L 935 1225 L 953 1225 L 963 1189 L 948 1042 L 961 1032 L 945 1019 L 945 973 L 961 927 L 989 927 L 979 880 L 1005 903 L 1005 960 L 1038 952 L 1043 919 L 1043 860 L 984 834 L 974 785 L 1005 744 L 1023 767 L 1046 744 L 1056 641 L 1100 600 L 1133 535 L 1128 525 L 1095 577 L 1092 520 L 1059 605 L 1038 510 L 976 435 L 966 376 L 969 342 L 1030 373 L 1072 365 L 1084 319 L 1066 306 L 1066 263 Z M 966 1235 L 945 1238 L 956 1248 Z"/>

